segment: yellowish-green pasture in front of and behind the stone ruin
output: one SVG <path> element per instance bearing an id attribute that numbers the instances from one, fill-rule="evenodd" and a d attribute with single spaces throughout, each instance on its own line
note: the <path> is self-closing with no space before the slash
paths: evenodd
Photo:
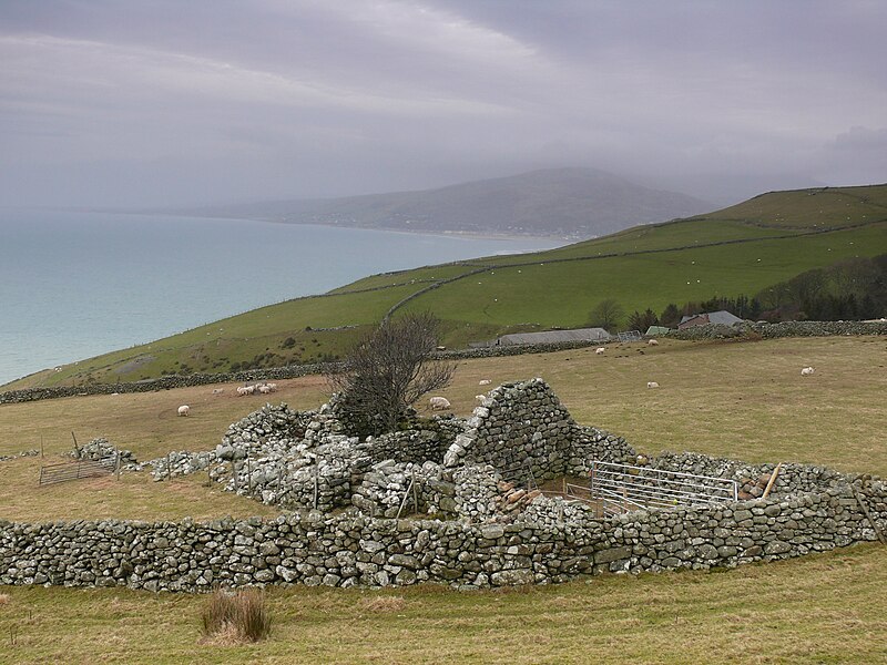
<path id="1" fill-rule="evenodd" d="M 643 351 L 643 354 L 641 352 Z M 816 374 L 802 378 L 806 365 Z M 582 423 L 636 448 L 750 461 L 807 461 L 887 474 L 887 339 L 611 346 L 460 364 L 446 395 L 460 415 L 478 381 L 541 376 Z M 659 381 L 648 390 L 646 381 Z M 320 379 L 283 381 L 295 408 Z M 261 406 L 213 386 L 0 406 L 0 454 L 106 436 L 141 459 L 204 450 Z M 176 418 L 180 403 L 192 416 Z M 268 514 L 202 479 L 35 487 L 39 458 L 0 462 L 0 519 Z M 274 589 L 272 638 L 200 641 L 194 595 L 0 587 L 0 663 L 879 663 L 887 662 L 887 548 L 871 544 L 718 573 L 600 576 L 549 587 L 459 593 Z"/>

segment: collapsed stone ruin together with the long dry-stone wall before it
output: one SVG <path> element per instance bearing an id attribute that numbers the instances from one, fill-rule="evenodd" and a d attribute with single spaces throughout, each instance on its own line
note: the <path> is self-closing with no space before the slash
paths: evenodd
<path id="1" fill-rule="evenodd" d="M 476 589 L 731 567 L 887 531 L 879 480 L 785 464 L 773 493 L 754 498 L 772 464 L 694 453 L 639 458 L 624 439 L 579 427 L 541 379 L 490 391 L 468 421 L 424 427 L 359 440 L 341 433 L 328 408 L 298 413 L 267 405 L 232 424 L 214 451 L 191 453 L 176 469 L 206 470 L 195 463 L 205 459 L 226 489 L 299 512 L 177 523 L 0 521 L 0 584 Z M 516 487 L 528 477 L 581 475 L 592 460 L 728 478 L 750 498 L 601 518 L 587 504 Z"/>

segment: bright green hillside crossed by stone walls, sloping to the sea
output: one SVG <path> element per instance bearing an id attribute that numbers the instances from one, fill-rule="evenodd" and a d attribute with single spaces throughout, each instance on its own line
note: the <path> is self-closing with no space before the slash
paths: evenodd
<path id="1" fill-rule="evenodd" d="M 548 252 L 375 275 L 7 388 L 310 362 L 343 354 L 386 314 L 409 310 L 431 310 L 442 319 L 442 342 L 458 347 L 503 332 L 582 326 L 608 298 L 626 313 L 662 311 L 669 303 L 751 295 L 812 268 L 887 253 L 887 185 L 825 193 L 769 193 L 704 217 Z M 815 215 L 797 213 L 809 201 Z"/>

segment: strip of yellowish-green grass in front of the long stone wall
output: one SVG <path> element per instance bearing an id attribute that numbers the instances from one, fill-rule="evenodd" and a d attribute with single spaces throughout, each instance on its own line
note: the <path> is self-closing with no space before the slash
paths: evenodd
<path id="1" fill-rule="evenodd" d="M 10 587 L 0 663 L 878 663 L 885 586 L 887 549 L 860 545 L 531 590 L 272 589 L 248 645 L 201 641 L 205 596 Z"/>

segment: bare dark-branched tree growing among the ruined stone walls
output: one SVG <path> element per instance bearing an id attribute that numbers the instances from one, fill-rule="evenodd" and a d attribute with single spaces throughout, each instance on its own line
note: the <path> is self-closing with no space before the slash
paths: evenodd
<path id="1" fill-rule="evenodd" d="M 450 382 L 456 366 L 431 358 L 438 326 L 430 313 L 383 321 L 327 374 L 355 433 L 395 431 L 410 405 Z"/>

